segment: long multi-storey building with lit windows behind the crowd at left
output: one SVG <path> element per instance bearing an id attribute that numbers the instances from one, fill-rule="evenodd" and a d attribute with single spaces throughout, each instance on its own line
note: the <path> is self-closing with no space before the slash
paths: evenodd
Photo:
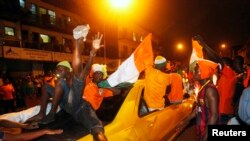
<path id="1" fill-rule="evenodd" d="M 61 0 L 58 2 L 62 3 Z M 79 13 L 61 7 L 58 2 L 12 0 L 0 3 L 2 73 L 7 72 L 12 76 L 29 73 L 38 75 L 53 70 L 59 61 L 71 61 L 74 47 L 72 30 L 88 21 Z M 109 71 L 115 71 L 148 33 L 135 24 L 122 23 L 105 26 L 105 47 L 98 50 L 94 59 L 94 63 L 106 64 Z M 91 26 L 82 54 L 84 63 L 91 50 L 91 37 L 95 33 L 97 30 Z"/>

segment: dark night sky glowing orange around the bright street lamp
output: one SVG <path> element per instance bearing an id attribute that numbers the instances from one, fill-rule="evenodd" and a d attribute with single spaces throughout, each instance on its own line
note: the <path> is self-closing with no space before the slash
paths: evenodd
<path id="1" fill-rule="evenodd" d="M 157 35 L 162 40 L 163 54 L 169 59 L 187 60 L 192 51 L 191 38 L 197 34 L 215 51 L 222 43 L 236 48 L 250 39 L 250 0 L 133 1 L 132 8 L 122 14 Z M 74 2 L 83 13 L 88 9 L 84 16 L 87 21 L 94 19 L 102 24 L 107 0 Z M 182 52 L 176 50 L 179 42 L 185 48 Z"/>

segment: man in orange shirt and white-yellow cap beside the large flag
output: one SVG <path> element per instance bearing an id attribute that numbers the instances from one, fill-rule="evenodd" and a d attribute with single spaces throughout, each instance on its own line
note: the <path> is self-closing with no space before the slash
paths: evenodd
<path id="1" fill-rule="evenodd" d="M 83 99 L 88 101 L 94 110 L 97 110 L 104 97 L 110 97 L 120 93 L 116 88 L 98 88 L 98 83 L 103 81 L 107 77 L 106 65 L 93 64 L 92 65 L 93 76 L 89 76 L 87 85 L 83 90 Z"/>

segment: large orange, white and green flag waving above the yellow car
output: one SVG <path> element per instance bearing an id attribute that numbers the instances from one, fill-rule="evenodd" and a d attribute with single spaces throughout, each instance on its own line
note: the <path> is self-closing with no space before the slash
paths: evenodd
<path id="1" fill-rule="evenodd" d="M 147 66 L 153 65 L 152 34 L 140 43 L 135 51 L 127 58 L 107 80 L 98 84 L 99 87 L 115 87 L 120 84 L 135 83 Z"/>

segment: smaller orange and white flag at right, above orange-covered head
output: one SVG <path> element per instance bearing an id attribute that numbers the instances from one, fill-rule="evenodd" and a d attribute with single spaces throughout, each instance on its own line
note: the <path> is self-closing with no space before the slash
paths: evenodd
<path id="1" fill-rule="evenodd" d="M 197 40 L 192 39 L 192 47 L 193 50 L 189 61 L 189 68 L 191 71 L 194 69 L 195 61 L 203 59 L 203 47 L 199 44 Z"/>

